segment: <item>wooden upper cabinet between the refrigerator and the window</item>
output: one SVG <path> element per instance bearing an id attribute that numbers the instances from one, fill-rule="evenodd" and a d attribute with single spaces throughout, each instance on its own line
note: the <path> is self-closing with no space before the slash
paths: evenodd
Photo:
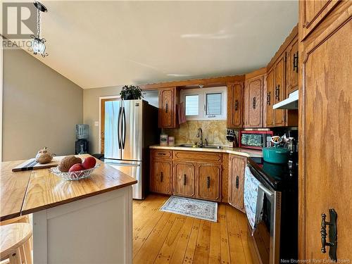
<path id="1" fill-rule="evenodd" d="M 176 87 L 169 87 L 159 91 L 159 127 L 177 127 L 176 103 Z"/>

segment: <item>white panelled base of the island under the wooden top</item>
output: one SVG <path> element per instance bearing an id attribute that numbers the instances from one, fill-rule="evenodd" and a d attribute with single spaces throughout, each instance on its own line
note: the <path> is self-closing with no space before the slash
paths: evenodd
<path id="1" fill-rule="evenodd" d="M 132 263 L 132 186 L 33 213 L 33 260 Z"/>

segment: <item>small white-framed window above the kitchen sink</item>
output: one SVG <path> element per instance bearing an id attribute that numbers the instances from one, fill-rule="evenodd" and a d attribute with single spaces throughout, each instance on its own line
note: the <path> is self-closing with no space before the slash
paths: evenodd
<path id="1" fill-rule="evenodd" d="M 183 89 L 180 102 L 184 102 L 187 120 L 226 120 L 227 87 Z"/>

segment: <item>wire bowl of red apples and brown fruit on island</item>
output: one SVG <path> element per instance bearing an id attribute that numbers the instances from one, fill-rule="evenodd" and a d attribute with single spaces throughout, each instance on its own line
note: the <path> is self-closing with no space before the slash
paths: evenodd
<path id="1" fill-rule="evenodd" d="M 82 161 L 81 158 L 71 155 L 63 158 L 60 164 L 50 171 L 63 180 L 82 180 L 89 177 L 99 166 L 100 164 L 96 164 L 96 159 L 93 157 L 84 158 Z"/>

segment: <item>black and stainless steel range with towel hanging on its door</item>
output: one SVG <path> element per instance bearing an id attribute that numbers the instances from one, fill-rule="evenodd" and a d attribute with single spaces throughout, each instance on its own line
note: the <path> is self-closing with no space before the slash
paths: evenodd
<path id="1" fill-rule="evenodd" d="M 248 166 L 260 182 L 258 197 L 263 199 L 253 232 L 256 255 L 263 264 L 290 263 L 298 258 L 298 167 L 254 160 L 249 158 Z"/>

